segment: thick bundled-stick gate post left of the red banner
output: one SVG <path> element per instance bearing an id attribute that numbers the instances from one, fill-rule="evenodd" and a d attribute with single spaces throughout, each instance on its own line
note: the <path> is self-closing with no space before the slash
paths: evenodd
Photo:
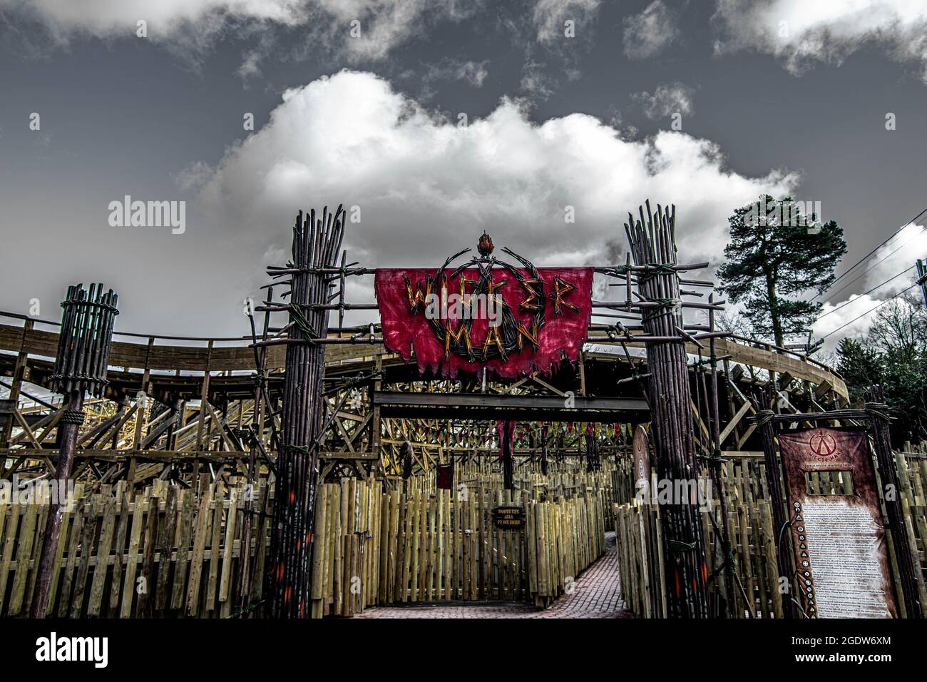
<path id="1" fill-rule="evenodd" d="M 324 344 L 313 339 L 328 335 L 328 312 L 323 306 L 334 283 L 322 269 L 336 264 L 344 223 L 341 206 L 334 213 L 326 207 L 318 219 L 314 210 L 306 216 L 300 211 L 293 228 L 286 375 L 267 573 L 266 598 L 273 618 L 311 616 L 312 523 L 325 360 Z"/>

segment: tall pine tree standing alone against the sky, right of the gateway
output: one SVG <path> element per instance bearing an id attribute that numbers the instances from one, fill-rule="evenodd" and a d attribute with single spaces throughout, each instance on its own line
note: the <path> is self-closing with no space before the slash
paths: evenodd
<path id="1" fill-rule="evenodd" d="M 782 346 L 789 334 L 806 334 L 819 302 L 795 298 L 807 290 L 822 293 L 846 253 L 844 230 L 802 214 L 802 202 L 766 195 L 730 216 L 727 263 L 718 268 L 721 290 L 730 302 L 743 302 L 754 331 Z"/>

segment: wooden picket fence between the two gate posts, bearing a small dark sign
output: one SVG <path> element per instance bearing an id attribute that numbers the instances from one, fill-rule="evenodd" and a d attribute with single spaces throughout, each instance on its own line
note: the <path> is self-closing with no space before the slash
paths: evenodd
<path id="1" fill-rule="evenodd" d="M 465 494 L 429 493 L 421 483 L 384 490 L 380 481 L 344 479 L 320 486 L 313 617 L 437 601 L 543 607 L 603 554 L 602 490 L 548 497 L 474 483 Z M 524 528 L 496 528 L 492 508 L 499 506 L 523 509 Z"/>

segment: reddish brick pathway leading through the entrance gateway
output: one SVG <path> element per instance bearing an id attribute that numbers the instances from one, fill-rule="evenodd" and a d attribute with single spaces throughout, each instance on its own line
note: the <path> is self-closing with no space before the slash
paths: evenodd
<path id="1" fill-rule="evenodd" d="M 579 576 L 573 594 L 564 595 L 549 609 L 528 604 L 479 603 L 370 608 L 355 618 L 631 618 L 618 596 L 618 557 L 615 533 L 605 534 L 605 554 Z"/>

